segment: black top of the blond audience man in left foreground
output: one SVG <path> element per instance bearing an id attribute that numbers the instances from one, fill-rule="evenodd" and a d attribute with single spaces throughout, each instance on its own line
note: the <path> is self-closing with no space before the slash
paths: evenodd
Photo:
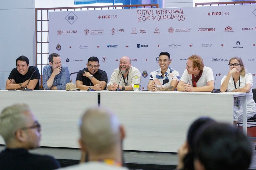
<path id="1" fill-rule="evenodd" d="M 0 153 L 0 169 L 52 170 L 60 163 L 51 156 L 31 154 L 26 149 L 5 149 Z"/>

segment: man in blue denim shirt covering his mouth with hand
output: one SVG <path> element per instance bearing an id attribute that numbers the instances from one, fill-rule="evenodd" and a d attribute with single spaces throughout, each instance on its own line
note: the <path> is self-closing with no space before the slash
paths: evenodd
<path id="1" fill-rule="evenodd" d="M 66 90 L 66 84 L 70 82 L 68 67 L 61 64 L 60 55 L 56 53 L 50 54 L 48 60 L 49 65 L 43 70 L 44 90 Z"/>

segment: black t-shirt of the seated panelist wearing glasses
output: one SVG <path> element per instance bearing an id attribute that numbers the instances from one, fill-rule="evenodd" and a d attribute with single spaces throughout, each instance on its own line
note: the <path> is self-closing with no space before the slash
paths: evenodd
<path id="1" fill-rule="evenodd" d="M 86 76 L 83 77 L 84 71 L 88 71 L 88 68 L 84 68 L 83 70 L 79 70 L 78 73 L 77 73 L 77 76 L 76 76 L 76 80 L 82 81 L 84 85 L 89 86 L 90 83 L 91 83 L 91 80 Z M 106 71 L 103 71 L 103 70 L 99 69 L 93 75 L 93 77 L 96 78 L 99 81 L 105 81 L 106 83 L 108 83 L 108 75 L 107 75 Z M 94 86 L 93 83 L 92 83 L 91 86 Z M 107 87 L 105 87 L 104 90 L 107 90 Z"/>

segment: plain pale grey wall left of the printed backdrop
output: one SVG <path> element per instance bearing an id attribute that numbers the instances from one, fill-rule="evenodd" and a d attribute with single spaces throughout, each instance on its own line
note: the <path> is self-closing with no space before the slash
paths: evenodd
<path id="1" fill-rule="evenodd" d="M 0 89 L 16 59 L 25 55 L 29 64 L 35 66 L 35 3 L 34 0 L 0 1 Z"/>

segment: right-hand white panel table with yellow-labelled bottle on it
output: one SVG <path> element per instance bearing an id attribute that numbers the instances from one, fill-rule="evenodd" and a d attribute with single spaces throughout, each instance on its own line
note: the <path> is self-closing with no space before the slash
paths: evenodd
<path id="1" fill-rule="evenodd" d="M 233 98 L 240 92 L 100 92 L 100 106 L 111 108 L 124 125 L 125 150 L 177 152 L 190 124 L 201 116 L 233 124 Z"/>

